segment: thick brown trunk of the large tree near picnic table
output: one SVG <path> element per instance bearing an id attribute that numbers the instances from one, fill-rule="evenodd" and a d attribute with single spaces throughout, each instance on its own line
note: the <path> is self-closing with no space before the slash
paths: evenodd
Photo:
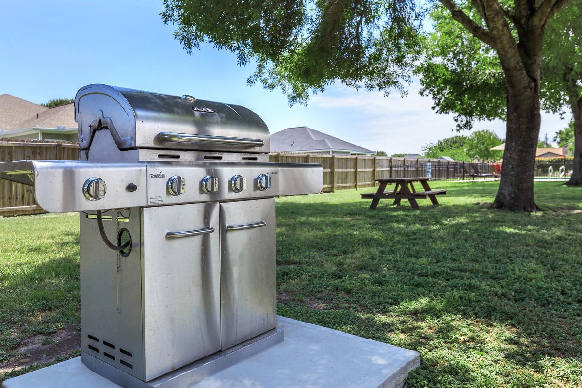
<path id="1" fill-rule="evenodd" d="M 521 82 L 521 87 L 515 84 L 508 80 L 505 153 L 492 207 L 533 212 L 538 210 L 534 201 L 534 170 L 541 123 L 540 88 L 531 79 Z"/>

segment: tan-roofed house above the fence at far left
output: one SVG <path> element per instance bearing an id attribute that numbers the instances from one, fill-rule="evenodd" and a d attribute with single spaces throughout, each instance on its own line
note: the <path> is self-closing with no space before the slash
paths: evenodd
<path id="1" fill-rule="evenodd" d="M 47 108 L 10 94 L 1 94 L 0 138 L 77 141 L 74 104 Z"/>

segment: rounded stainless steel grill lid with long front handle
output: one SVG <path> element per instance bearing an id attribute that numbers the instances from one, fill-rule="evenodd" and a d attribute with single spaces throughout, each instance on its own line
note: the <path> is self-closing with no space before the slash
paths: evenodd
<path id="1" fill-rule="evenodd" d="M 81 149 L 109 130 L 119 149 L 159 148 L 268 153 L 269 130 L 240 105 L 93 84 L 74 101 Z"/>

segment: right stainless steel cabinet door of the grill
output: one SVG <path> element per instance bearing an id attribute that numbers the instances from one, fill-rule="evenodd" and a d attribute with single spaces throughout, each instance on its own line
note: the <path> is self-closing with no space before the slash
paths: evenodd
<path id="1" fill-rule="evenodd" d="M 221 203 L 220 217 L 225 350 L 276 325 L 275 199 Z"/>

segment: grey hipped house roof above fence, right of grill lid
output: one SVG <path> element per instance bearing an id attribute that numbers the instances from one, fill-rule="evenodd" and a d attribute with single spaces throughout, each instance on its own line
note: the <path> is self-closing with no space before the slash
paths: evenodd
<path id="1" fill-rule="evenodd" d="M 271 135 L 271 152 L 312 152 L 315 154 L 375 155 L 375 151 L 349 143 L 310 127 L 283 129 Z"/>

